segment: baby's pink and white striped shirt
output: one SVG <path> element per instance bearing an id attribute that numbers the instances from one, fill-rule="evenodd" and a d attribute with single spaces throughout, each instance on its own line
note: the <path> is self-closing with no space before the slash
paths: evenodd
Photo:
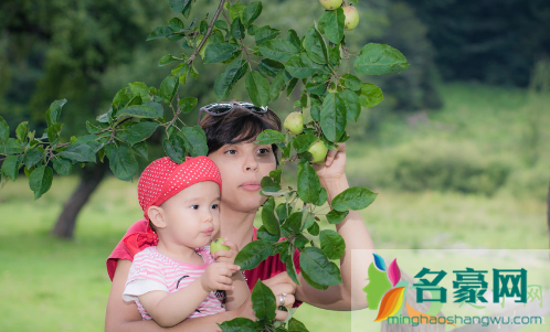
<path id="1" fill-rule="evenodd" d="M 210 255 L 210 246 L 204 246 L 195 250 L 202 256 L 204 264 L 193 265 L 173 260 L 160 254 L 157 247 L 148 247 L 138 253 L 134 257 L 123 298 L 126 301 L 136 301 L 144 320 L 151 319 L 137 297 L 152 290 L 173 293 L 199 278 L 207 267 L 214 263 L 214 258 Z M 215 297 L 215 292 L 211 292 L 188 318 L 203 317 L 224 311 L 225 309 Z"/>

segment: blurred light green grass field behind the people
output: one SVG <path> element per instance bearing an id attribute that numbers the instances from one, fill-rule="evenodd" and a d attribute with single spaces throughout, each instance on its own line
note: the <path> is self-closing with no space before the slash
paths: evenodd
<path id="1" fill-rule="evenodd" d="M 526 150 L 526 142 L 532 139 L 527 95 L 521 90 L 464 85 L 446 86 L 443 93 L 445 109 L 430 115 L 430 124 L 411 128 L 404 120 L 391 118 L 376 139 L 362 146 L 348 144 L 351 184 L 369 183 L 379 193 L 362 212 L 376 246 L 547 249 L 549 233 L 542 193 L 550 175 L 550 139 L 548 130 L 541 130 L 532 151 Z M 494 120 L 487 122 L 488 119 Z M 548 111 L 538 122 L 548 128 Z M 448 126 L 455 129 L 441 129 Z M 491 195 L 452 190 L 403 191 L 372 180 L 392 167 L 384 164 L 385 156 L 388 160 L 395 158 L 400 147 L 425 139 L 474 146 L 484 158 L 511 160 L 510 175 Z M 529 162 L 529 156 L 536 156 L 536 161 Z M 24 176 L 0 190 L 0 331 L 103 330 L 110 287 L 105 259 L 141 215 L 136 182 L 113 178 L 104 181 L 83 210 L 75 238 L 55 239 L 50 229 L 76 183 L 76 178 L 56 178 L 39 201 L 33 201 Z M 351 328 L 349 312 L 304 304 L 296 317 L 310 331 Z M 529 326 L 522 331 L 539 330 Z"/>

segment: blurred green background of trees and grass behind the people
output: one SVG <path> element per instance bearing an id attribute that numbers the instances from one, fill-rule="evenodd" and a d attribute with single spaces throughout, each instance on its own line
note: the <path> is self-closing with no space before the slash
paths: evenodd
<path id="1" fill-rule="evenodd" d="M 195 8 L 204 12 L 216 4 L 201 2 Z M 377 247 L 548 248 L 548 1 L 359 6 L 350 49 L 388 43 L 411 63 L 402 75 L 377 78 L 385 100 L 350 130 L 348 178 L 380 193 L 362 212 Z M 279 0 L 264 3 L 262 17 L 304 32 L 321 12 L 317 1 Z M 2 1 L 1 116 L 12 129 L 30 118 L 31 130 L 41 131 L 49 104 L 67 98 L 65 139 L 83 133 L 85 119 L 106 111 L 128 82 L 159 85 L 168 74 L 156 63 L 179 51 L 145 38 L 169 18 L 168 4 L 152 0 Z M 180 93 L 211 103 L 216 67 L 198 71 L 209 75 L 189 79 Z M 244 86 L 232 96 L 245 97 Z M 297 97 L 281 97 L 272 108 L 284 117 Z M 150 160 L 161 153 L 150 151 Z M 56 179 L 35 202 L 24 176 L 0 191 L 1 331 L 103 329 L 105 258 L 140 216 L 136 182 L 104 181 L 75 238 L 55 239 L 49 231 L 76 184 L 76 176 Z M 310 331 L 350 324 L 349 313 L 308 306 L 298 319 Z"/>

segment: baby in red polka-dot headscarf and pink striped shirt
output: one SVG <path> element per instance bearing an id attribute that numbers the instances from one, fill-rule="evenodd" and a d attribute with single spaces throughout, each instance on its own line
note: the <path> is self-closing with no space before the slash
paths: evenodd
<path id="1" fill-rule="evenodd" d="M 222 181 L 208 157 L 178 164 L 165 157 L 149 164 L 138 182 L 139 205 L 149 219 L 146 233 L 124 239 L 135 255 L 123 298 L 136 301 L 144 320 L 173 326 L 188 318 L 241 306 L 250 290 L 234 265 L 236 245 L 210 253 L 220 229 Z M 140 249 L 144 243 L 152 243 Z M 225 291 L 225 308 L 216 291 Z M 223 292 L 222 292 L 223 293 Z"/>

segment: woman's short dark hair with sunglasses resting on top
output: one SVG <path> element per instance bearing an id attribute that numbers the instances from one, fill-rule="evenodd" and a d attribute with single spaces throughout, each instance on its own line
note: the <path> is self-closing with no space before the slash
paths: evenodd
<path id="1" fill-rule="evenodd" d="M 200 126 L 207 133 L 209 153 L 218 151 L 224 144 L 253 142 L 265 129 L 282 130 L 281 119 L 273 110 L 255 113 L 239 105 L 222 116 L 207 114 Z M 278 165 L 278 148 L 272 144 L 272 149 Z"/>

